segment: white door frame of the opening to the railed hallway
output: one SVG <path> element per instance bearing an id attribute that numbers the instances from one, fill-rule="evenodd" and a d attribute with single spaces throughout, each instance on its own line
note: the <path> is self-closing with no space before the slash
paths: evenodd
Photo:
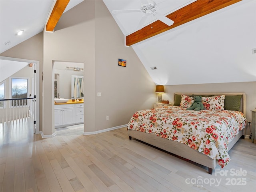
<path id="1" fill-rule="evenodd" d="M 40 134 L 40 128 L 39 128 L 39 121 L 40 121 L 40 61 L 37 60 L 29 60 L 29 59 L 20 59 L 20 58 L 12 58 L 12 57 L 4 57 L 0 56 L 0 60 L 9 60 L 9 61 L 18 61 L 18 62 L 28 62 L 28 63 L 34 63 L 36 64 L 36 76 L 34 78 L 34 88 L 36 91 L 36 101 L 35 101 L 35 117 L 36 124 L 35 124 L 35 133 Z"/>

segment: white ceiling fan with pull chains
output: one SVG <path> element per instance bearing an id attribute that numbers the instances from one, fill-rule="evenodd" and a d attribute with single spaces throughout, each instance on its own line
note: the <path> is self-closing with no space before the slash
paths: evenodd
<path id="1" fill-rule="evenodd" d="M 144 13 L 144 16 L 142 16 L 137 30 L 142 29 L 142 27 L 144 27 L 146 25 L 146 18 L 148 16 L 154 16 L 155 18 L 157 18 L 158 20 L 162 21 L 163 23 L 165 23 L 168 26 L 171 26 L 172 24 L 174 24 L 174 21 L 169 19 L 168 17 L 159 14 L 157 12 L 158 7 L 156 6 L 156 2 L 152 1 L 152 0 L 148 0 L 148 1 L 141 1 L 141 6 L 140 9 L 129 9 L 129 10 L 112 10 L 113 14 L 118 14 L 118 13 L 135 13 L 135 12 L 142 12 Z M 151 18 L 152 20 L 152 18 Z M 151 26 L 152 28 L 152 26 Z"/>

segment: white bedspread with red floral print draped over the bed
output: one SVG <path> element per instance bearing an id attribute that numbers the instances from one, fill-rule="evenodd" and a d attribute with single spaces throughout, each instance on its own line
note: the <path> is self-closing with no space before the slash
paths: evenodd
<path id="1" fill-rule="evenodd" d="M 169 106 L 136 112 L 128 129 L 154 133 L 175 140 L 218 160 L 223 168 L 230 161 L 228 143 L 246 126 L 238 111 L 186 110 Z"/>

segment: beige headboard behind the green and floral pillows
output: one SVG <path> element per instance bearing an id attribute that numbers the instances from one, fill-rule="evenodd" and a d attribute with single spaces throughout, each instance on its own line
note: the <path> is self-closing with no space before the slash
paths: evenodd
<path id="1" fill-rule="evenodd" d="M 174 93 L 174 99 L 175 95 L 242 95 L 242 98 L 240 100 L 240 110 L 246 116 L 246 95 L 245 93 L 191 93 L 191 92 L 178 92 Z"/>

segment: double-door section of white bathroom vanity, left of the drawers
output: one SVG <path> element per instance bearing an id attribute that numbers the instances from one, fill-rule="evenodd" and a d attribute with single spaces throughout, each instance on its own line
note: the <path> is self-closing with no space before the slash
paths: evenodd
<path id="1" fill-rule="evenodd" d="M 55 126 L 69 125 L 76 123 L 75 104 L 63 104 L 54 106 Z"/>

